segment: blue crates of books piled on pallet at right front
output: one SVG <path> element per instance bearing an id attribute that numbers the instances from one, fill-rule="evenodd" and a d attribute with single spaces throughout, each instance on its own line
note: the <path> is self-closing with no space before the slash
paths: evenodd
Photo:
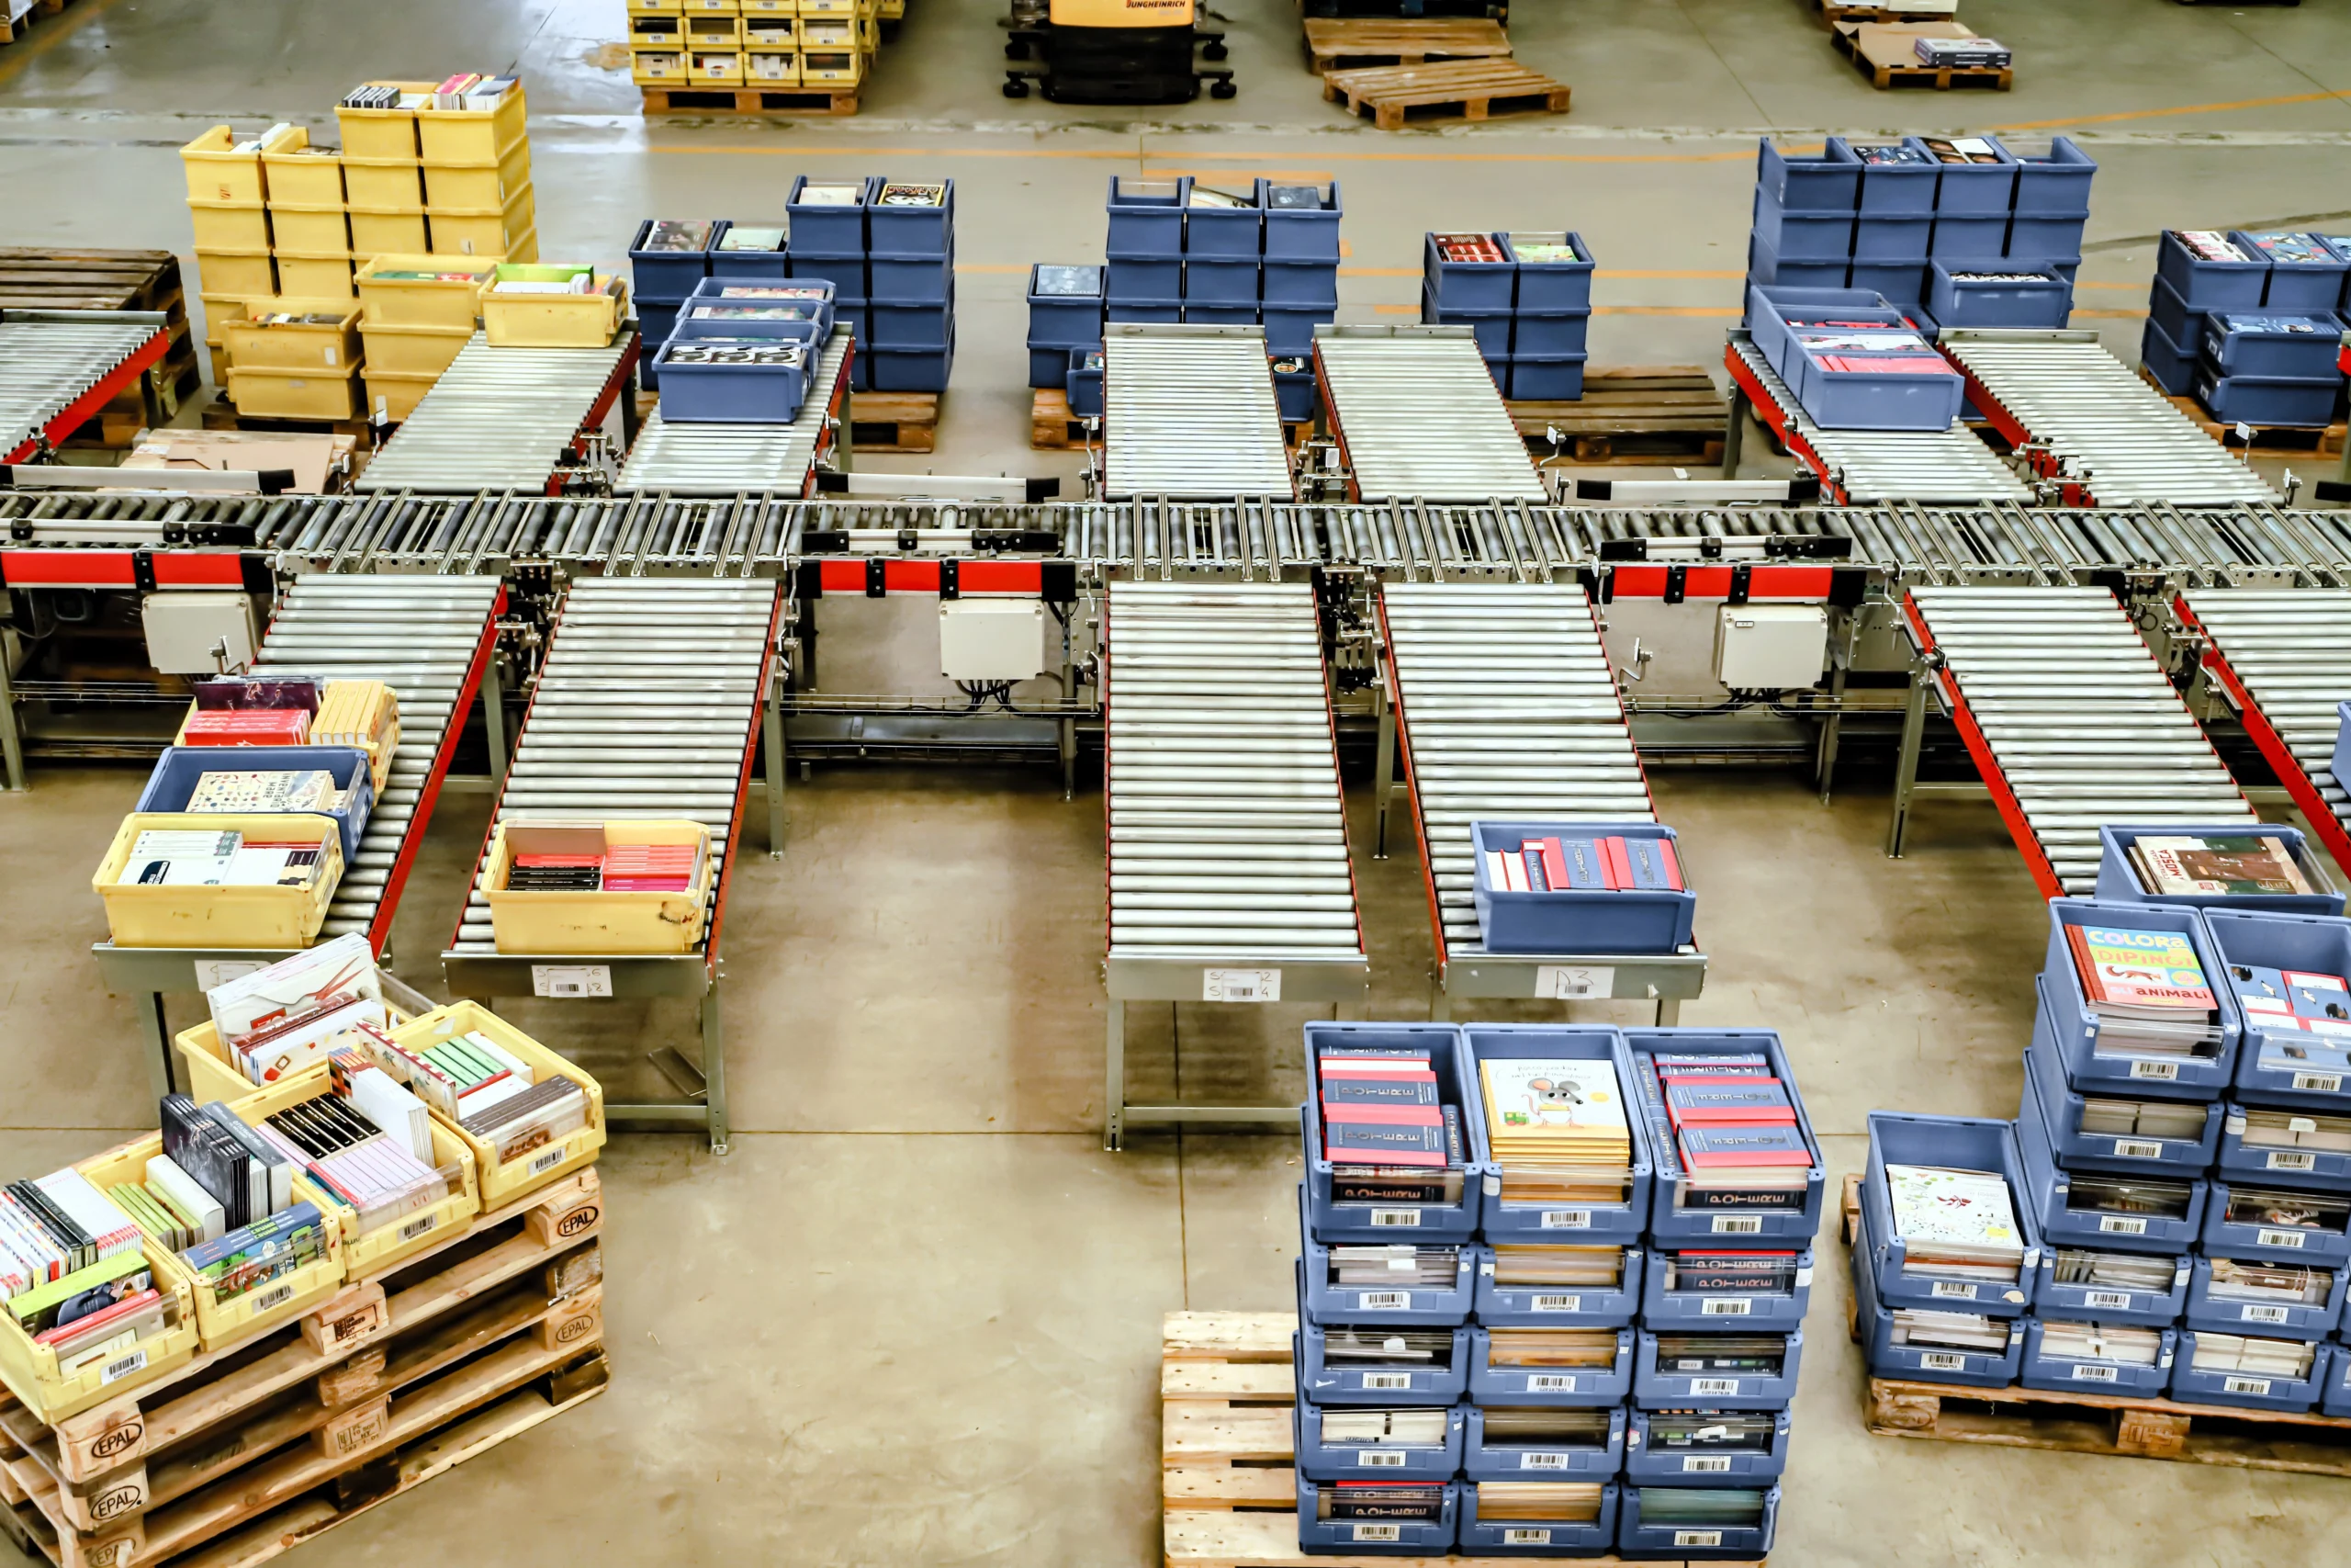
<path id="1" fill-rule="evenodd" d="M 2172 1450 L 2193 1408 L 2351 1418 L 2344 900 L 2292 827 L 2099 832 L 2017 1119 L 1869 1119 L 1874 1422 L 1911 1385 L 2135 1401 Z"/>

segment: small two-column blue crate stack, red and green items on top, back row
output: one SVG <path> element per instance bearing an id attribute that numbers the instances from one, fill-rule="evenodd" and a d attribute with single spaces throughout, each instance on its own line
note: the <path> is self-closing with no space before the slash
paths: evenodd
<path id="1" fill-rule="evenodd" d="M 1521 256 L 1514 240 L 1533 235 L 1474 235 L 1493 247 L 1491 261 L 1451 261 L 1444 240 L 1422 237 L 1420 320 L 1469 327 L 1486 371 L 1505 397 L 1559 402 L 1585 395 L 1585 331 L 1592 324 L 1592 249 L 1580 233 L 1563 240 L 1575 261 Z"/>

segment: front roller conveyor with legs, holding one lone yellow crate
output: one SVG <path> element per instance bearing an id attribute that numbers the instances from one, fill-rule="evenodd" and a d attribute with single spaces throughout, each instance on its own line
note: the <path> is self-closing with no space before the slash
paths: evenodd
<path id="1" fill-rule="evenodd" d="M 501 954 L 482 877 L 442 954 L 465 997 L 550 994 L 548 966 L 597 976 L 614 997 L 701 1001 L 703 1060 L 675 1051 L 656 1065 L 686 1103 L 609 1105 L 614 1119 L 691 1121 L 726 1147 L 724 1037 L 717 1009 L 719 922 L 741 844 L 743 804 L 762 715 L 771 715 L 776 583 L 588 578 L 564 597 L 538 686 L 515 738 L 494 825 L 531 820 L 684 818 L 710 827 L 717 875 L 703 943 L 684 954 Z M 773 719 L 769 717 L 773 736 Z M 769 835 L 781 844 L 781 748 L 769 748 Z M 555 992 L 562 994 L 562 992 Z M 590 987 L 588 994 L 595 994 Z"/>

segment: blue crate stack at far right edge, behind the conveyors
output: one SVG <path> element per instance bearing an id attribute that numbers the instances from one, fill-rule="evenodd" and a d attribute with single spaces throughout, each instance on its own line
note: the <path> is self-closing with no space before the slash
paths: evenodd
<path id="1" fill-rule="evenodd" d="M 2165 393 L 2193 393 L 2215 418 L 2332 421 L 2344 386 L 2335 353 L 2351 313 L 2351 235 L 2219 237 L 2243 261 L 2198 256 L 2177 230 L 2163 233 L 2139 364 Z"/>

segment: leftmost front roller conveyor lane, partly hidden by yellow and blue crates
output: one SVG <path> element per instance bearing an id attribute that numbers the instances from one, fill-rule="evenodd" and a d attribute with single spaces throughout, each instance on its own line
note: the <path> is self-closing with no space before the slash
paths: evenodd
<path id="1" fill-rule="evenodd" d="M 456 738 L 482 689 L 505 583 L 489 576 L 294 578 L 254 656 L 256 670 L 324 679 L 376 679 L 400 701 L 400 748 L 360 835 L 357 858 L 327 905 L 322 936 L 364 931 L 381 950 L 393 933 L 426 823 Z"/>

